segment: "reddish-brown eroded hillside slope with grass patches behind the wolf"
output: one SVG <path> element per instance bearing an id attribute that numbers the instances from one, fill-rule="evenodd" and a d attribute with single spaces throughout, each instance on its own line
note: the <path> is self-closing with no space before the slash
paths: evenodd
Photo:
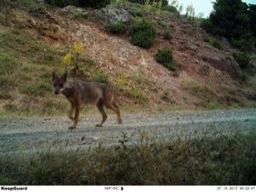
<path id="1" fill-rule="evenodd" d="M 234 50 L 212 47 L 206 39 L 213 38 L 199 26 L 171 13 L 147 15 L 157 40 L 141 49 L 126 36 L 108 34 L 93 9 L 78 20 L 40 3 L 5 0 L 0 8 L 0 113 L 66 111 L 66 100 L 52 92 L 50 74 L 63 72 L 61 58 L 75 42 L 84 47 L 84 73 L 90 80 L 107 77 L 124 108 L 255 107 L 255 76 L 241 71 Z M 129 3 L 126 9 L 140 8 Z M 163 38 L 166 31 L 172 39 Z M 157 49 L 166 46 L 173 50 L 177 73 L 154 60 Z"/>

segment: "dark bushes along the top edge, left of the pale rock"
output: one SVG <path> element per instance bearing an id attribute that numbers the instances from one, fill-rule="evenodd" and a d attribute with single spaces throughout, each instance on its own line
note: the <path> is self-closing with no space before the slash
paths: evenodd
<path id="1" fill-rule="evenodd" d="M 46 0 L 46 3 L 65 7 L 67 5 L 80 6 L 84 8 L 96 8 L 100 9 L 110 3 L 110 0 Z"/>

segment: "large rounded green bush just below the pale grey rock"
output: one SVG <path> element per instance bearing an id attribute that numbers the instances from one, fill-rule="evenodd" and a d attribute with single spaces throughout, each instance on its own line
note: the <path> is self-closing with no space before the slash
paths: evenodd
<path id="1" fill-rule="evenodd" d="M 155 33 L 151 22 L 137 20 L 131 28 L 131 44 L 148 49 L 154 44 Z"/>

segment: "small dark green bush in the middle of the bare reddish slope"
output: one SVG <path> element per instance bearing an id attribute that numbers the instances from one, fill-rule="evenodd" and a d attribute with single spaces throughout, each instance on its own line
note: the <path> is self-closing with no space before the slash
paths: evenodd
<path id="1" fill-rule="evenodd" d="M 163 64 L 171 71 L 176 71 L 177 68 L 172 63 L 172 50 L 168 48 L 158 49 L 157 54 L 154 56 L 155 60 Z"/>

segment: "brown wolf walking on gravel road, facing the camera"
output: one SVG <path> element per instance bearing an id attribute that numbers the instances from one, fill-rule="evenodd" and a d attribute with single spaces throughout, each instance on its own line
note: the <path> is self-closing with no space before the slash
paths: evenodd
<path id="1" fill-rule="evenodd" d="M 102 113 L 102 122 L 96 126 L 102 126 L 107 119 L 104 107 L 112 109 L 117 114 L 119 124 L 122 123 L 119 106 L 108 84 L 79 80 L 69 82 L 67 81 L 67 72 L 61 76 L 53 72 L 52 83 L 55 94 L 63 94 L 67 97 L 68 102 L 71 103 L 68 118 L 73 120 L 73 125 L 69 127 L 70 130 L 75 129 L 78 125 L 80 108 L 83 103 L 95 104 L 100 113 Z"/>

